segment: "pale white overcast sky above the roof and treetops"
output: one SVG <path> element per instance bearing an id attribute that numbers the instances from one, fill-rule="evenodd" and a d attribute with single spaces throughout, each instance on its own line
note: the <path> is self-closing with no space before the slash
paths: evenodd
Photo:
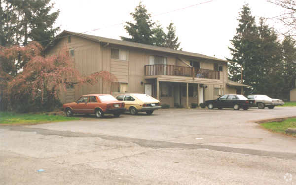
<path id="1" fill-rule="evenodd" d="M 123 28 L 126 21 L 132 21 L 130 15 L 140 0 L 53 0 L 55 8 L 61 13 L 56 26 L 61 31 L 86 32 L 86 34 L 120 39 L 128 37 Z M 177 36 L 184 51 L 216 56 L 225 59 L 231 57 L 228 46 L 238 26 L 238 12 L 243 4 L 249 3 L 252 14 L 270 18 L 283 13 L 283 10 L 266 0 L 214 0 L 183 10 L 179 8 L 206 2 L 208 0 L 142 0 L 152 20 L 163 28 L 173 22 Z M 83 2 L 83 3 L 81 3 Z M 168 13 L 165 13 L 168 12 Z M 163 14 L 162 14 L 163 13 Z M 161 14 L 161 15 L 159 15 Z M 117 24 L 117 25 L 116 25 Z M 268 24 L 280 30 L 282 25 L 274 20 Z M 113 26 L 116 25 L 116 26 Z M 165 29 L 166 31 L 166 29 Z"/>

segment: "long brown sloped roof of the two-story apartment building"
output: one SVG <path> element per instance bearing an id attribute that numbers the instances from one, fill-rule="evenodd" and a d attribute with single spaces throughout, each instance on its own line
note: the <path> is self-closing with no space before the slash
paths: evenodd
<path id="1" fill-rule="evenodd" d="M 154 46 L 154 45 L 148 45 L 148 44 L 142 44 L 142 43 L 130 42 L 130 41 L 124 41 L 124 40 L 117 40 L 117 39 L 106 38 L 106 37 L 98 37 L 98 36 L 92 36 L 92 35 L 87 35 L 87 34 L 80 34 L 80 33 L 70 32 L 70 31 L 66 31 L 66 30 L 64 30 L 61 34 L 56 36 L 56 39 L 59 39 L 59 38 L 63 37 L 64 35 L 67 35 L 67 36 L 73 35 L 73 36 L 83 37 L 83 38 L 93 40 L 96 42 L 104 42 L 104 43 L 111 43 L 111 44 L 123 45 L 123 46 L 128 46 L 128 47 L 148 49 L 148 50 L 153 50 L 153 51 L 161 51 L 161 52 L 185 55 L 185 56 L 190 56 L 190 57 L 210 59 L 210 60 L 215 60 L 215 61 L 220 61 L 220 62 L 229 62 L 226 60 L 222 60 L 222 59 L 215 58 L 215 57 L 210 57 L 207 55 L 202 55 L 199 53 L 180 51 L 180 50 L 175 50 L 175 49 L 171 49 L 171 48 L 167 48 L 167 47 L 159 47 L 159 46 Z"/>

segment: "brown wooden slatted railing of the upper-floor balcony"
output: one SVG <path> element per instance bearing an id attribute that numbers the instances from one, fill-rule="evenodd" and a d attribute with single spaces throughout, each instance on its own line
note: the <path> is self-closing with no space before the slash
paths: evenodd
<path id="1" fill-rule="evenodd" d="M 165 64 L 146 65 L 145 75 L 194 76 L 196 78 L 220 79 L 219 71 Z"/>

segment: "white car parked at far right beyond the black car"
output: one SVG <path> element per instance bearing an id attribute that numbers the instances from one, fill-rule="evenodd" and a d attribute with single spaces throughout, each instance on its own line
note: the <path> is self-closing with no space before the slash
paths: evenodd
<path id="1" fill-rule="evenodd" d="M 268 107 L 268 109 L 273 109 L 274 106 L 282 106 L 285 104 L 283 100 L 273 99 L 261 94 L 251 94 L 248 96 L 248 99 L 255 100 L 259 109 L 264 109 L 265 107 Z"/>

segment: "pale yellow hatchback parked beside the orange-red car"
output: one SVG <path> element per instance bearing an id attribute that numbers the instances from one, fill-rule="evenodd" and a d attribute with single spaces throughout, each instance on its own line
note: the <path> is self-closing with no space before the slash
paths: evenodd
<path id="1" fill-rule="evenodd" d="M 116 96 L 117 100 L 125 103 L 126 110 L 132 115 L 138 112 L 146 112 L 151 115 L 153 111 L 160 109 L 160 102 L 147 94 L 120 94 Z"/>

